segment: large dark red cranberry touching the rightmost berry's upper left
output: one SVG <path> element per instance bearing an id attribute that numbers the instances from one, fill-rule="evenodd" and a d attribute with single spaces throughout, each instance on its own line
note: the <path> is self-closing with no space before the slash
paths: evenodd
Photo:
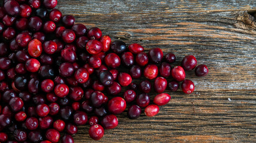
<path id="1" fill-rule="evenodd" d="M 182 60 L 182 67 L 185 71 L 189 71 L 195 69 L 197 66 L 197 59 L 195 59 L 194 55 L 187 55 Z"/>

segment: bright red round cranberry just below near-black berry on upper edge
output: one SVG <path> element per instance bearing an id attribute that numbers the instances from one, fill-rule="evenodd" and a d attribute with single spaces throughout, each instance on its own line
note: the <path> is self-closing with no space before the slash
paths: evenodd
<path id="1" fill-rule="evenodd" d="M 104 61 L 106 63 L 106 66 L 112 69 L 116 69 L 121 65 L 121 59 L 115 53 L 107 54 L 106 57 L 104 58 Z"/>

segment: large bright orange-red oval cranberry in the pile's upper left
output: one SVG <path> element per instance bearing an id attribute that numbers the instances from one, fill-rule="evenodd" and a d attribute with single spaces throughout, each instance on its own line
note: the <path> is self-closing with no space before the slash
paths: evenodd
<path id="1" fill-rule="evenodd" d="M 42 54 L 42 51 L 42 43 L 38 39 L 33 39 L 28 43 L 28 53 L 31 57 L 39 57 Z"/>

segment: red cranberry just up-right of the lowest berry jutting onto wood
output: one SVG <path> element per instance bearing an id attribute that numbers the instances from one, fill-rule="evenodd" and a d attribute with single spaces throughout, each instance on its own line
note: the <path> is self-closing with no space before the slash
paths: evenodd
<path id="1" fill-rule="evenodd" d="M 107 115 L 101 120 L 101 125 L 104 129 L 114 129 L 118 126 L 118 117 L 113 114 Z"/>

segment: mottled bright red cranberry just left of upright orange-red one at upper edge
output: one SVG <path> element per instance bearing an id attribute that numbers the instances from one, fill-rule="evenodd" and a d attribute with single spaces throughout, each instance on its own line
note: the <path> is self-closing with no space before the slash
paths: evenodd
<path id="1" fill-rule="evenodd" d="M 89 54 L 95 55 L 100 53 L 102 50 L 103 45 L 100 41 L 92 39 L 86 43 L 86 51 L 88 51 Z"/>

